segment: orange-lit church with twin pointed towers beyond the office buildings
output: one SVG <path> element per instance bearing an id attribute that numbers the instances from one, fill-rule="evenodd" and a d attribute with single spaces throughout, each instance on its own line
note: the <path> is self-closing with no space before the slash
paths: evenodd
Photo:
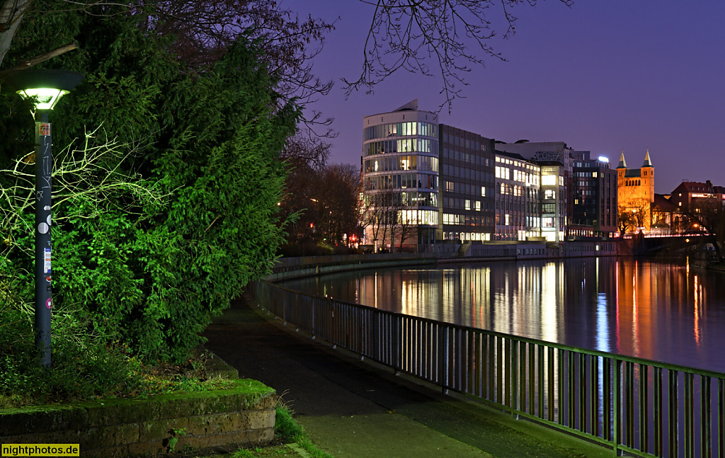
<path id="1" fill-rule="evenodd" d="M 624 160 L 624 150 L 617 165 L 617 202 L 625 211 L 642 214 L 638 230 L 650 232 L 652 228 L 652 203 L 655 201 L 655 167 L 647 149 L 645 163 L 639 169 L 630 169 Z"/>

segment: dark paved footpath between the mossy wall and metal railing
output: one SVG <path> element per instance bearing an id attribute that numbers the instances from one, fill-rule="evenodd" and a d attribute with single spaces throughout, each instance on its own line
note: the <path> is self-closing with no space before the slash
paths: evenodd
<path id="1" fill-rule="evenodd" d="M 458 394 L 296 332 L 245 295 L 207 328 L 207 348 L 283 396 L 336 458 L 611 457 L 612 451 L 514 420 Z"/>

